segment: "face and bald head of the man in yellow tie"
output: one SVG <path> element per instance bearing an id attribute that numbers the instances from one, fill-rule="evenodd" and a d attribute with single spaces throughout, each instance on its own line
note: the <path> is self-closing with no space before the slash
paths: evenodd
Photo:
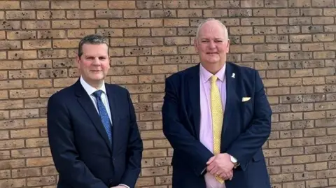
<path id="1" fill-rule="evenodd" d="M 195 50 L 203 64 L 225 63 L 229 45 L 223 27 L 214 21 L 205 23 L 195 39 Z"/>

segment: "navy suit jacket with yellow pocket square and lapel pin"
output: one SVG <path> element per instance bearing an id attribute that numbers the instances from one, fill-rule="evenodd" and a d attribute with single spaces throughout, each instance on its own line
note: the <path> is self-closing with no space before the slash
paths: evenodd
<path id="1" fill-rule="evenodd" d="M 232 76 L 234 75 L 234 76 Z M 233 78 L 234 77 L 234 78 Z M 271 131 L 272 110 L 262 80 L 252 68 L 227 62 L 226 106 L 221 153 L 237 158 L 227 188 L 270 188 L 262 145 Z M 174 188 L 205 188 L 206 163 L 214 156 L 200 143 L 200 64 L 174 73 L 166 80 L 162 106 L 163 131 L 174 148 Z M 243 102 L 243 97 L 251 97 Z"/>

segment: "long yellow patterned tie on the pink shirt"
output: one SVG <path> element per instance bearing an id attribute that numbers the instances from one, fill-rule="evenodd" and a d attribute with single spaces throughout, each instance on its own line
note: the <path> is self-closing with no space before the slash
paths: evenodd
<path id="1" fill-rule="evenodd" d="M 211 77 L 211 116 L 212 116 L 212 129 L 214 133 L 214 154 L 221 152 L 221 134 L 223 126 L 223 108 L 221 93 L 216 85 L 217 76 Z M 221 184 L 224 180 L 216 175 L 216 179 Z"/>

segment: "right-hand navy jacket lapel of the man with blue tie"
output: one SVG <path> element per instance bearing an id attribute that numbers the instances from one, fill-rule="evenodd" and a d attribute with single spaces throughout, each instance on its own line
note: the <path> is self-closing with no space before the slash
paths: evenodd
<path id="1" fill-rule="evenodd" d="M 120 108 L 122 105 L 120 105 L 120 101 L 118 101 L 117 96 L 118 93 L 116 93 L 115 91 L 113 91 L 113 87 L 111 87 L 111 85 L 107 85 L 105 84 L 105 88 L 106 88 L 106 94 L 107 97 L 109 98 L 109 106 L 110 106 L 110 110 L 111 110 L 111 119 L 112 119 L 112 151 L 114 152 L 114 150 L 117 148 L 116 145 L 118 144 L 118 140 L 119 140 L 119 135 L 118 132 L 118 128 L 119 128 L 119 117 L 120 115 L 118 115 L 119 110 L 118 107 Z"/>

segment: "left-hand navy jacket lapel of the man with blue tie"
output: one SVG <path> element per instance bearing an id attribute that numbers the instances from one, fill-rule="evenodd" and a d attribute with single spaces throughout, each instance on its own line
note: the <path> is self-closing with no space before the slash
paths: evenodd
<path id="1" fill-rule="evenodd" d="M 94 127 L 97 129 L 100 136 L 104 138 L 106 145 L 108 145 L 109 150 L 111 151 L 111 144 L 107 136 L 106 130 L 104 128 L 104 125 L 99 117 L 96 108 L 94 107 L 94 104 L 92 103 L 92 100 L 90 99 L 90 96 L 87 95 L 87 92 L 80 84 L 79 80 L 76 82 L 75 86 L 76 86 L 76 96 L 78 96 L 77 99 L 78 102 L 80 103 L 80 106 L 82 106 L 82 108 L 85 110 L 87 116 L 90 117 L 92 124 L 94 124 Z"/>

